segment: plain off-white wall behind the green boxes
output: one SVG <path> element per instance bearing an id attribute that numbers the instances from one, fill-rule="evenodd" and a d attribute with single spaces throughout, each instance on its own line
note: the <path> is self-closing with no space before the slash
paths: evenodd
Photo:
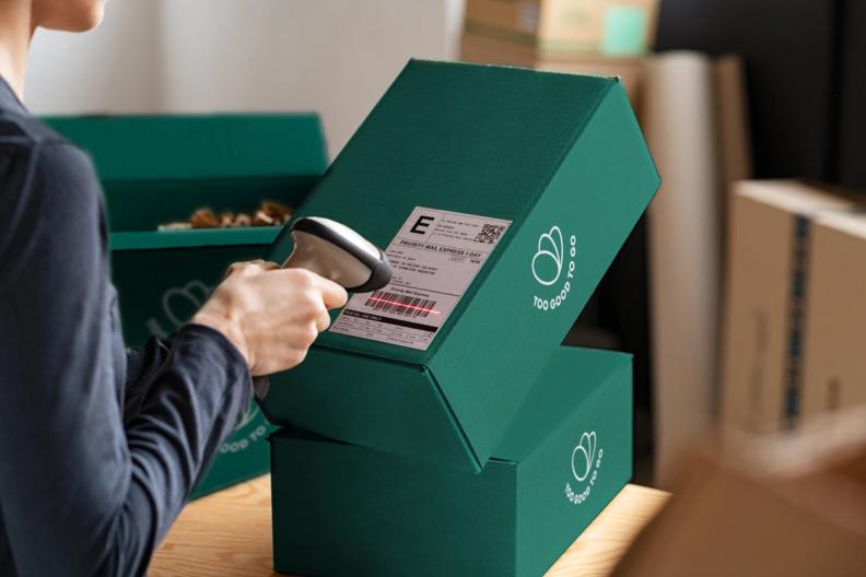
<path id="1" fill-rule="evenodd" d="M 36 113 L 318 111 L 331 157 L 411 57 L 456 55 L 464 0 L 114 0 L 40 31 Z"/>

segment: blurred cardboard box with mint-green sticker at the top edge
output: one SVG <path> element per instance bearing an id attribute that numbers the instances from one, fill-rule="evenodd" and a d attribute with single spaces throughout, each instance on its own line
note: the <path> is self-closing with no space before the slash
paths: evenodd
<path id="1" fill-rule="evenodd" d="M 467 0 L 466 30 L 545 52 L 635 56 L 655 37 L 658 0 Z"/>

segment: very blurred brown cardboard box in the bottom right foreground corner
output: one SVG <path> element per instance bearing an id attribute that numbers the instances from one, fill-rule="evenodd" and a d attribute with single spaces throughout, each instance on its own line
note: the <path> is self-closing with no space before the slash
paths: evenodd
<path id="1" fill-rule="evenodd" d="M 866 412 L 835 416 L 705 447 L 611 575 L 864 575 Z"/>

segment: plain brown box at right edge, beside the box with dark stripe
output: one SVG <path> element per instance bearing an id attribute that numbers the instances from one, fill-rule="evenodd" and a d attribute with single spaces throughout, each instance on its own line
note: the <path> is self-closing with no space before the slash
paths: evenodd
<path id="1" fill-rule="evenodd" d="M 812 225 L 801 414 L 866 404 L 866 214 Z"/>

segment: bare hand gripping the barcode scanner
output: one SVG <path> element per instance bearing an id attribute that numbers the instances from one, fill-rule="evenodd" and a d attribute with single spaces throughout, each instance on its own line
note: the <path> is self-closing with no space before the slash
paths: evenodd
<path id="1" fill-rule="evenodd" d="M 329 308 L 348 295 L 339 284 L 305 269 L 273 262 L 232 264 L 191 322 L 222 332 L 254 376 L 292 368 L 330 325 Z"/>

